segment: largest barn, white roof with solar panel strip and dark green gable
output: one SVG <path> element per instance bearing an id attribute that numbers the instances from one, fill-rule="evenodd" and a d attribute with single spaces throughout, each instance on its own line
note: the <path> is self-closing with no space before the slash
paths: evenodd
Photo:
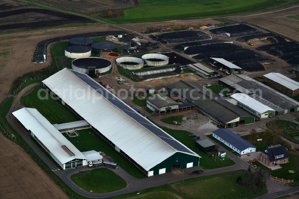
<path id="1" fill-rule="evenodd" d="M 199 165 L 198 154 L 88 75 L 64 68 L 42 82 L 62 104 L 148 176 L 171 172 L 173 166 L 186 169 Z"/>

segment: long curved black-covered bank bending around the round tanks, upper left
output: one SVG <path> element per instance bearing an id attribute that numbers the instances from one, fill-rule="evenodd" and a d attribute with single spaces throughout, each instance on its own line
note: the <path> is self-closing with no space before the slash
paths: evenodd
<path id="1" fill-rule="evenodd" d="M 39 42 L 36 45 L 36 50 L 34 51 L 32 61 L 35 63 L 45 62 L 46 60 L 44 58 L 44 55 L 47 57 L 48 45 L 53 42 L 59 42 L 59 41 L 71 39 L 74 37 L 97 37 L 97 36 L 118 35 L 118 34 L 125 34 L 125 33 L 126 33 L 125 31 L 105 31 L 105 32 L 92 32 L 92 33 L 67 35 L 67 36 L 62 36 L 62 37 L 46 39 L 42 42 Z"/>

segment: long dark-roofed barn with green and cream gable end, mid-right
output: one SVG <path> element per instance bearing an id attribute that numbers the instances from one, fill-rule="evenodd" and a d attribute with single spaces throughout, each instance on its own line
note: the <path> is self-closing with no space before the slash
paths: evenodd
<path id="1" fill-rule="evenodd" d="M 180 80 L 167 86 L 167 90 L 171 95 L 179 96 L 182 102 L 196 105 L 197 109 L 223 128 L 254 123 L 253 115 L 227 102 L 196 82 Z"/>

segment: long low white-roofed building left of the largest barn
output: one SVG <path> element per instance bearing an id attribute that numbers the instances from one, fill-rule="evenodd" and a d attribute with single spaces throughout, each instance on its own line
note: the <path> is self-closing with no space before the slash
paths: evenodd
<path id="1" fill-rule="evenodd" d="M 87 165 L 87 157 L 35 108 L 22 108 L 13 115 L 62 169 Z"/>

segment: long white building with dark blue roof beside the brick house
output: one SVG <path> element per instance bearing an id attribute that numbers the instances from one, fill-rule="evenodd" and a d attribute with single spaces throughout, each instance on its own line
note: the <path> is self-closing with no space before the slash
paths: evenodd
<path id="1" fill-rule="evenodd" d="M 213 131 L 213 137 L 241 155 L 255 152 L 256 150 L 254 145 L 226 128 L 219 128 Z"/>

